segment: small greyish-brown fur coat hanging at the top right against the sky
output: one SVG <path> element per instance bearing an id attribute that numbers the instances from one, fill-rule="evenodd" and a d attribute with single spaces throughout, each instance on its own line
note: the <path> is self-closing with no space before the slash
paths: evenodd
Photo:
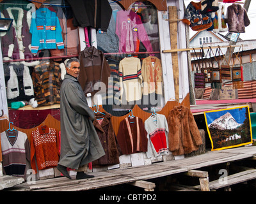
<path id="1" fill-rule="evenodd" d="M 250 25 L 246 10 L 239 4 L 232 4 L 227 8 L 228 32 L 245 33 L 245 27 Z"/>

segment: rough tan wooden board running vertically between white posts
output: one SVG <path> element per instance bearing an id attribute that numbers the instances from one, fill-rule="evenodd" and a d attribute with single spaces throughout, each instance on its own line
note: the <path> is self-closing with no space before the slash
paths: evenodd
<path id="1" fill-rule="evenodd" d="M 177 7 L 176 6 L 168 6 L 168 10 L 169 10 L 169 29 L 170 29 L 171 49 L 177 49 L 177 35 L 178 35 Z M 173 69 L 175 100 L 177 102 L 179 102 L 179 61 L 178 61 L 178 52 L 173 52 L 172 53 L 172 69 Z"/>

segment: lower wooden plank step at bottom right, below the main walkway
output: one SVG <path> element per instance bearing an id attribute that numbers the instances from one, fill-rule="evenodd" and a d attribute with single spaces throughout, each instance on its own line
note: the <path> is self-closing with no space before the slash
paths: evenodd
<path id="1" fill-rule="evenodd" d="M 232 175 L 229 175 L 225 180 L 214 180 L 209 182 L 209 188 L 211 191 L 214 191 L 216 189 L 220 189 L 221 187 L 227 187 L 227 186 L 232 186 L 234 184 L 239 184 L 242 182 L 245 182 L 247 180 L 252 180 L 256 179 L 256 170 L 246 170 L 246 171 L 241 171 L 239 173 L 235 173 Z M 195 189 L 200 189 L 201 186 L 194 186 Z"/>

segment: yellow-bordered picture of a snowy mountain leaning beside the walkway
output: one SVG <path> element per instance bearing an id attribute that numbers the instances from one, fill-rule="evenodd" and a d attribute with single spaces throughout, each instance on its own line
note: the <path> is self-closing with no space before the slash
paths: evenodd
<path id="1" fill-rule="evenodd" d="M 252 143 L 248 106 L 205 112 L 212 150 L 228 149 Z"/>

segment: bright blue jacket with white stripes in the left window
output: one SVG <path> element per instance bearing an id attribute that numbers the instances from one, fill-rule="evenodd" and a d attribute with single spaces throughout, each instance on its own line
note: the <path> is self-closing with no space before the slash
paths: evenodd
<path id="1" fill-rule="evenodd" d="M 30 33 L 32 34 L 31 52 L 42 49 L 63 49 L 60 20 L 48 8 L 38 8 L 32 13 Z"/>

